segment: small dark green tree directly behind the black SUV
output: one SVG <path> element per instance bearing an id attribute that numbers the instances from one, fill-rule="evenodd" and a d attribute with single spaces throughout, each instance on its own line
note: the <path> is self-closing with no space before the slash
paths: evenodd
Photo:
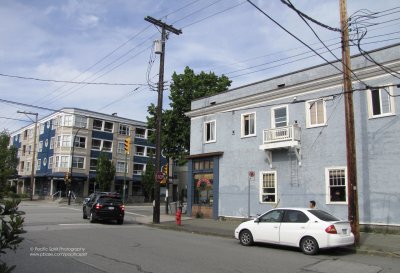
<path id="1" fill-rule="evenodd" d="M 114 176 L 114 162 L 109 159 L 108 153 L 101 151 L 96 168 L 96 182 L 99 184 L 100 191 L 110 191 Z"/>

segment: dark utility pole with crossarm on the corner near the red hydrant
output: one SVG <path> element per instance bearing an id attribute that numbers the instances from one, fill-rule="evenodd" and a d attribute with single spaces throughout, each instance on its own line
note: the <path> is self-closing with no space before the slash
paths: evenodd
<path id="1" fill-rule="evenodd" d="M 160 52 L 160 72 L 158 79 L 158 102 L 156 111 L 156 173 L 161 170 L 161 115 L 162 115 L 162 100 L 164 89 L 164 58 L 165 58 L 165 42 L 167 40 L 166 31 L 176 35 L 182 33 L 181 30 L 174 28 L 171 25 L 163 23 L 161 20 L 147 16 L 144 20 L 161 28 L 161 52 Z M 154 207 L 153 207 L 153 223 L 160 223 L 160 182 L 154 178 Z"/>

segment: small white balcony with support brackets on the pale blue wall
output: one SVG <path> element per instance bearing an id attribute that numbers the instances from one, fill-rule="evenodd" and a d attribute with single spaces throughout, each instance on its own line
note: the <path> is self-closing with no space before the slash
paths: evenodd
<path id="1" fill-rule="evenodd" d="M 300 136 L 301 129 L 297 124 L 263 131 L 263 143 L 259 148 L 266 152 L 270 167 L 272 167 L 272 151 L 275 149 L 293 149 L 301 165 Z"/>

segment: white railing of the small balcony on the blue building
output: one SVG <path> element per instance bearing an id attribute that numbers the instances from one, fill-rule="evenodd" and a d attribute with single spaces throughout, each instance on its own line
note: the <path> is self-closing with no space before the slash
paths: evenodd
<path id="1" fill-rule="evenodd" d="M 263 131 L 263 144 L 276 142 L 300 142 L 300 127 L 290 125 Z"/>

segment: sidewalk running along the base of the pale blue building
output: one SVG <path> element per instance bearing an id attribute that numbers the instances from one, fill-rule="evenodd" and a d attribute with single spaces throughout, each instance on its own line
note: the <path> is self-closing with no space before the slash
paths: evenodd
<path id="1" fill-rule="evenodd" d="M 212 220 L 183 217 L 182 224 L 178 226 L 175 222 L 175 216 L 162 214 L 160 224 L 153 224 L 152 219 L 143 224 L 156 228 L 234 238 L 234 230 L 240 223 L 241 220 Z M 348 247 L 344 248 L 344 250 L 400 258 L 400 235 L 362 232 L 360 246 L 356 248 Z"/>

